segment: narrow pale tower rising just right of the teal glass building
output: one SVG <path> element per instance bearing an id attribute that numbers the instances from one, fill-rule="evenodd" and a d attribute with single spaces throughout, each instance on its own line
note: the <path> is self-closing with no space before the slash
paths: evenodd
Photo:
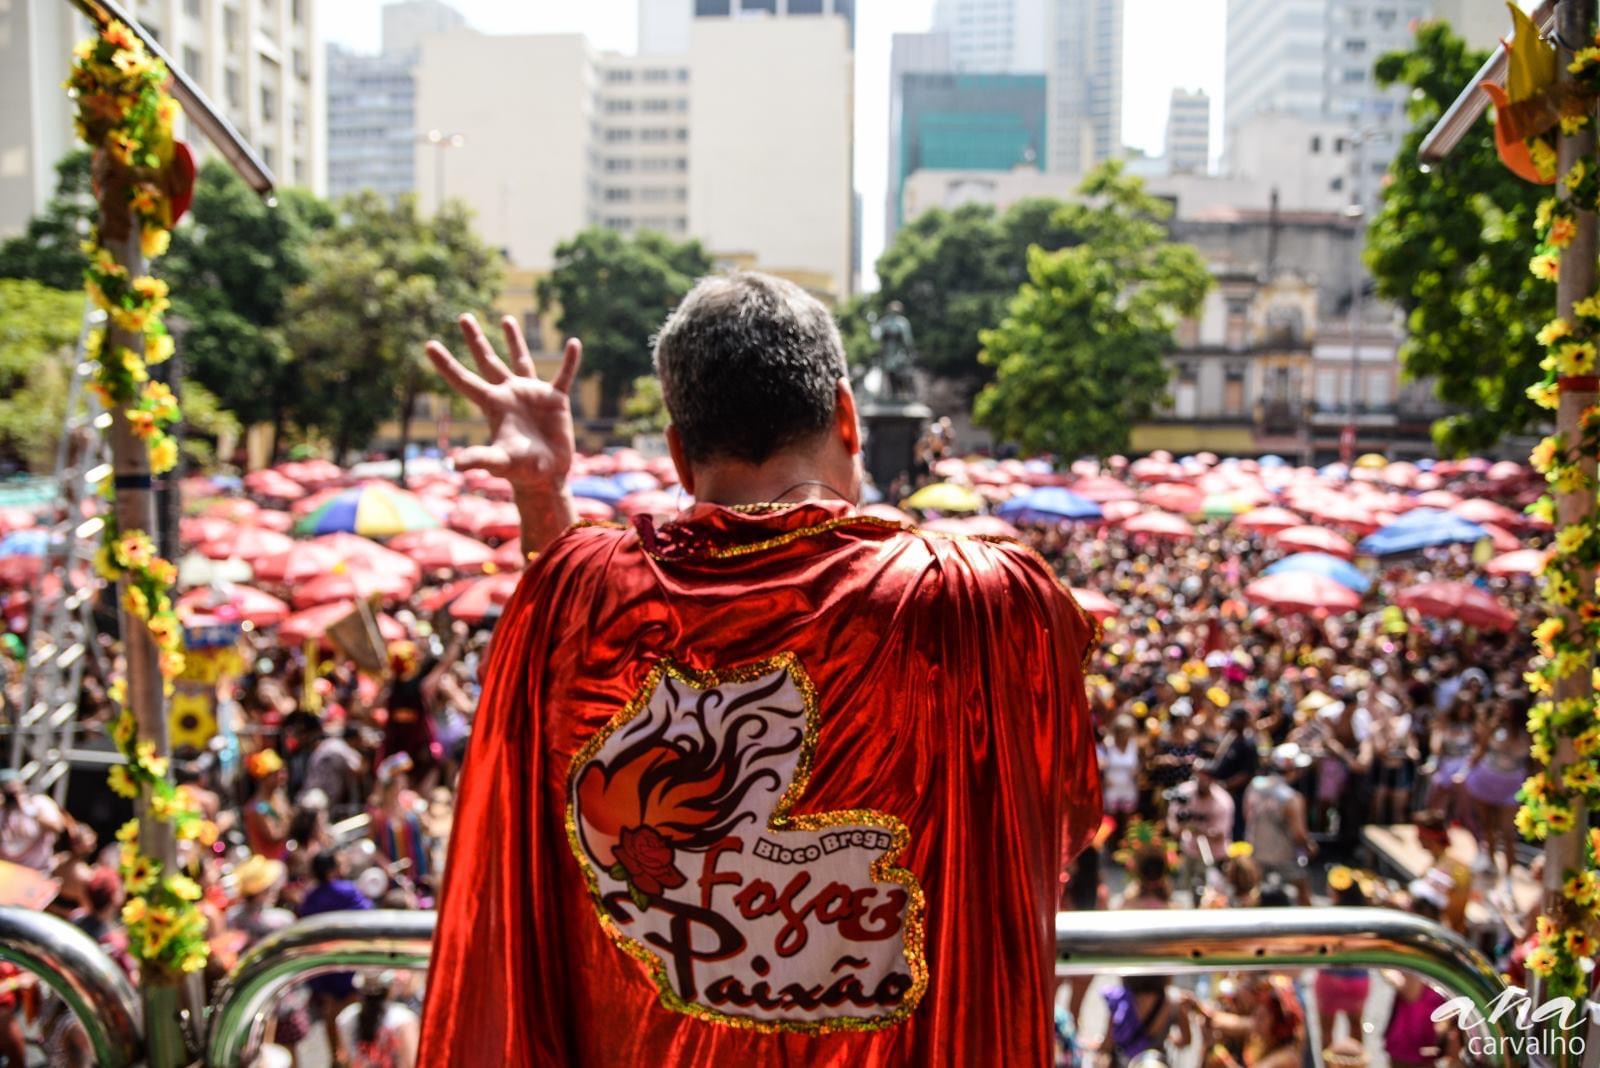
<path id="1" fill-rule="evenodd" d="M 1122 152 L 1122 0 L 1048 0 L 1048 169 L 1082 174 Z"/>

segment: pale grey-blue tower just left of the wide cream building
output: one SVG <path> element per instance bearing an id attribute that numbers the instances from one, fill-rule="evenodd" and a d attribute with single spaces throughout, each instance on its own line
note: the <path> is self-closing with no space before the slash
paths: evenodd
<path id="1" fill-rule="evenodd" d="M 416 62 L 422 42 L 464 26 L 461 13 L 438 0 L 402 0 L 382 10 L 382 51 L 376 56 L 328 46 L 328 195 L 371 189 L 390 200 L 421 192 L 438 203 L 454 147 L 446 131 L 416 123 Z M 427 177 L 418 179 L 416 145 L 427 144 Z"/>

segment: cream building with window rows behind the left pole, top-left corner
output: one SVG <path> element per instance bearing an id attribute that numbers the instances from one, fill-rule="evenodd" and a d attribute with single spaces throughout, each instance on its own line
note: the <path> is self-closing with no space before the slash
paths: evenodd
<path id="1" fill-rule="evenodd" d="M 130 0 L 142 24 L 216 104 L 283 185 L 322 192 L 323 67 L 317 0 Z M 50 198 L 72 139 L 61 90 L 72 45 L 90 34 L 61 0 L 0 3 L 0 235 L 19 232 Z M 178 136 L 203 157 L 187 120 Z"/>

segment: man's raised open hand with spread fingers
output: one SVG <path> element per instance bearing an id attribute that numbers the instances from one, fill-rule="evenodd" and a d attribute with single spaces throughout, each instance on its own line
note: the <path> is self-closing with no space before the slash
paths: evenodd
<path id="1" fill-rule="evenodd" d="M 478 371 L 474 374 L 450 355 L 438 341 L 427 342 L 427 358 L 451 389 L 477 404 L 490 424 L 490 444 L 475 444 L 456 454 L 456 468 L 477 468 L 504 478 L 518 496 L 558 494 L 573 465 L 573 408 L 568 393 L 578 374 L 584 347 L 571 337 L 562 353 L 555 379 L 544 382 L 533 369 L 533 355 L 517 320 L 501 320 L 510 353 L 507 366 L 483 334 L 477 318 L 461 317 Z"/>

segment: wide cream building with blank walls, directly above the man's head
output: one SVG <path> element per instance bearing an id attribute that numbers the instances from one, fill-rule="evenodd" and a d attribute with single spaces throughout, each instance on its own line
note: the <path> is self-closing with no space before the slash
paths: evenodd
<path id="1" fill-rule="evenodd" d="M 605 225 L 694 237 L 834 299 L 851 289 L 845 18 L 694 18 L 683 51 L 638 56 L 456 29 L 424 38 L 416 77 L 418 128 L 462 139 L 450 195 L 517 267 L 547 269 L 557 243 Z"/>

